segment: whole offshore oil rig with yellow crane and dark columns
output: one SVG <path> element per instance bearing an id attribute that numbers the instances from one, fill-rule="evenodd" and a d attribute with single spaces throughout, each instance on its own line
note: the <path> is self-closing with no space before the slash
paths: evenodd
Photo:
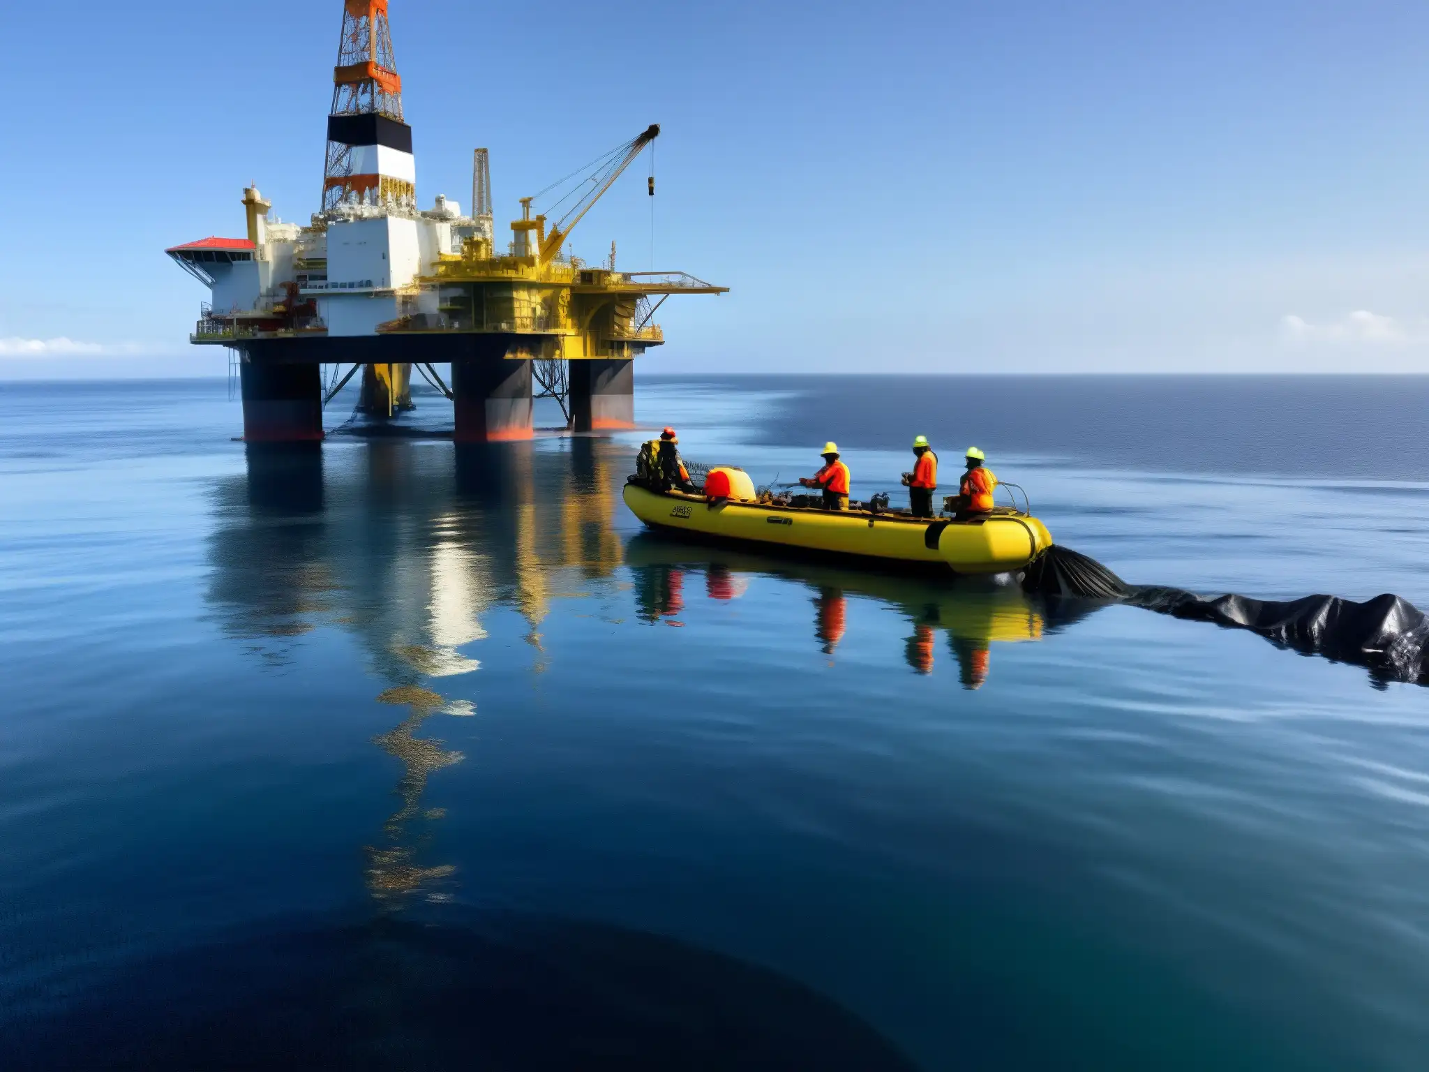
<path id="1" fill-rule="evenodd" d="M 683 272 L 617 272 L 613 243 L 600 266 L 566 249 L 659 126 L 567 176 L 580 180 L 559 217 L 532 206 L 566 180 L 520 199 L 497 250 L 486 149 L 474 152 L 470 216 L 440 194 L 417 207 L 387 0 L 343 0 L 333 86 L 322 210 L 307 226 L 270 222 L 250 186 L 247 237 L 166 250 L 211 292 L 190 342 L 231 347 L 244 440 L 323 439 L 323 407 L 359 370 L 359 409 L 390 417 L 412 406 L 413 366 L 453 402 L 457 442 L 529 439 L 533 382 L 576 432 L 632 427 L 632 362 L 664 342 L 654 312 L 670 294 L 727 290 Z M 450 384 L 437 363 L 450 363 Z"/>

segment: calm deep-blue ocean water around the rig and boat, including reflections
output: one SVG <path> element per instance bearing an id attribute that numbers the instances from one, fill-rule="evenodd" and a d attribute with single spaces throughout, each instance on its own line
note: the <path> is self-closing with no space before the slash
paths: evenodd
<path id="1" fill-rule="evenodd" d="M 274 453 L 221 382 L 0 402 L 3 1068 L 1429 1065 L 1422 688 L 670 543 L 619 500 L 640 435 Z M 1127 580 L 1422 607 L 1426 413 L 1372 377 L 637 396 L 757 482 L 833 437 L 896 495 L 926 433 Z"/>

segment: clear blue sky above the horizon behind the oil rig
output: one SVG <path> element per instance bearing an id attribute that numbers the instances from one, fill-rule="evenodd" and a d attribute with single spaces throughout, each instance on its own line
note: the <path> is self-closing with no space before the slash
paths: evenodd
<path id="1" fill-rule="evenodd" d="M 306 220 L 340 0 L 7 13 L 0 376 L 220 373 L 161 253 Z M 659 121 L 652 370 L 1429 367 L 1429 4 L 392 0 L 419 199 Z M 644 163 L 573 249 L 649 267 Z M 61 340 L 61 342 L 56 342 Z M 63 342 L 69 340 L 69 342 Z"/>

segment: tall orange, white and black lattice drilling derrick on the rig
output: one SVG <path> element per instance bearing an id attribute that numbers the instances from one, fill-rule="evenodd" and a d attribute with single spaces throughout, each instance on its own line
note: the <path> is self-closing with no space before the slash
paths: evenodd
<path id="1" fill-rule="evenodd" d="M 413 209 L 417 170 L 402 116 L 387 0 L 344 0 L 327 116 L 323 212 L 340 204 Z"/>

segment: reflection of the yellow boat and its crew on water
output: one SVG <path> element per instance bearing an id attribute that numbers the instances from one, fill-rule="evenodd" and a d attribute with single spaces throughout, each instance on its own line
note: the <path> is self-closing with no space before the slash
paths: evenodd
<path id="1" fill-rule="evenodd" d="M 925 577 L 905 572 L 840 569 L 826 563 L 792 562 L 719 545 L 662 539 L 639 533 L 626 543 L 626 565 L 636 573 L 640 616 L 654 622 L 686 607 L 687 573 L 704 573 L 712 599 L 733 599 L 749 586 L 750 576 L 776 576 L 813 589 L 815 639 L 833 655 L 847 630 L 847 600 L 877 600 L 910 625 L 906 642 L 909 666 L 930 673 L 936 662 L 936 637 L 942 632 L 959 667 L 959 679 L 970 689 L 987 678 L 990 647 L 996 643 L 1039 640 L 1065 622 L 1052 617 L 1047 603 L 1029 596 L 1016 585 L 987 579 Z"/>

